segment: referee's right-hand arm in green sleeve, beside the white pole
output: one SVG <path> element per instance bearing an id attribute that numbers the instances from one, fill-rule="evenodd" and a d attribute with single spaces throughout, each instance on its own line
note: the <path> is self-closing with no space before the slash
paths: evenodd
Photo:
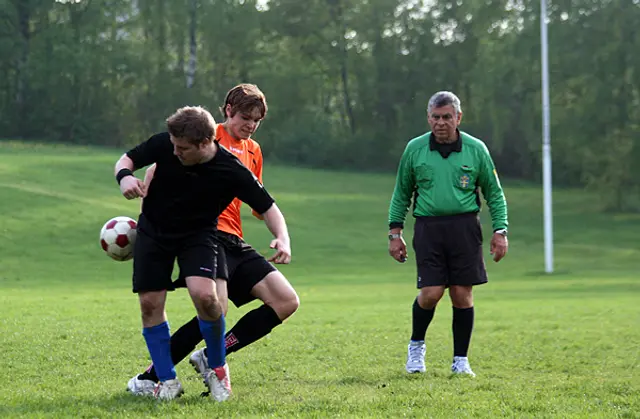
<path id="1" fill-rule="evenodd" d="M 507 221 L 507 201 L 489 150 L 485 147 L 481 152 L 482 164 L 480 165 L 478 184 L 489 206 L 493 224 L 493 236 L 491 237 L 490 245 L 491 254 L 493 255 L 493 260 L 499 262 L 509 249 L 509 242 L 506 236 L 506 229 L 509 225 Z"/>

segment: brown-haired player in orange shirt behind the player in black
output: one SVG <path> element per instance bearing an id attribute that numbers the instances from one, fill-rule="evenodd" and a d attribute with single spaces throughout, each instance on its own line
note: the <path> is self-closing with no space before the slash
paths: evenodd
<path id="1" fill-rule="evenodd" d="M 251 139 L 267 113 L 264 94 L 253 84 L 240 84 L 227 93 L 221 112 L 224 122 L 218 124 L 216 141 L 231 151 L 262 182 L 262 150 Z M 153 178 L 155 167 L 147 169 L 147 187 Z M 218 260 L 216 284 L 218 295 L 227 312 L 227 292 L 236 307 L 254 299 L 264 304 L 246 313 L 225 335 L 226 353 L 230 354 L 266 336 L 271 330 L 290 317 L 300 304 L 298 295 L 273 263 L 281 260 L 265 259 L 243 240 L 240 218 L 241 201 L 235 199 L 218 218 Z M 254 216 L 260 218 L 254 212 Z M 285 244 L 289 247 L 289 243 Z M 275 248 L 276 243 L 271 243 Z M 288 263 L 288 261 L 284 261 Z M 184 287 L 184 279 L 178 278 L 176 288 Z M 202 341 L 197 317 L 181 326 L 171 336 L 171 358 L 174 364 L 187 357 Z M 189 362 L 201 374 L 206 374 L 208 364 L 206 348 L 195 351 Z M 158 377 L 153 364 L 141 374 L 129 380 L 127 390 L 135 395 L 152 395 Z"/>

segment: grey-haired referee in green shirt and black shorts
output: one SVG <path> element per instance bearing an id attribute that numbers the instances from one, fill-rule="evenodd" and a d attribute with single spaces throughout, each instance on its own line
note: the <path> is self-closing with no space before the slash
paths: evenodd
<path id="1" fill-rule="evenodd" d="M 407 260 L 402 238 L 413 199 L 416 218 L 413 249 L 418 267 L 418 297 L 413 303 L 412 334 L 406 370 L 424 372 L 424 338 L 436 305 L 449 288 L 453 305 L 454 374 L 475 376 L 467 352 L 473 330 L 474 285 L 487 282 L 482 256 L 479 189 L 493 222 L 491 254 L 500 261 L 508 249 L 507 203 L 486 145 L 459 131 L 460 99 L 438 92 L 429 99 L 431 131 L 411 140 L 400 160 L 389 207 L 389 254 Z"/>

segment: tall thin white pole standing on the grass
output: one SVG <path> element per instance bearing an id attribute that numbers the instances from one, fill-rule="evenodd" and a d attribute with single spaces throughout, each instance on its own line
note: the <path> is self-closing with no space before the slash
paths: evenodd
<path id="1" fill-rule="evenodd" d="M 544 266 L 553 272 L 553 212 L 551 209 L 551 139 L 549 126 L 549 63 L 547 0 L 540 0 L 540 44 L 542 54 L 542 189 L 544 206 Z"/>

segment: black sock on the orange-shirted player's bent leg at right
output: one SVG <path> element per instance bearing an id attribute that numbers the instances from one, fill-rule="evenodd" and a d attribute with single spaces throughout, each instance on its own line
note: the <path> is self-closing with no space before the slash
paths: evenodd
<path id="1" fill-rule="evenodd" d="M 266 304 L 251 310 L 227 332 L 225 336 L 227 354 L 236 352 L 265 337 L 281 323 L 282 321 L 276 312 Z"/>

